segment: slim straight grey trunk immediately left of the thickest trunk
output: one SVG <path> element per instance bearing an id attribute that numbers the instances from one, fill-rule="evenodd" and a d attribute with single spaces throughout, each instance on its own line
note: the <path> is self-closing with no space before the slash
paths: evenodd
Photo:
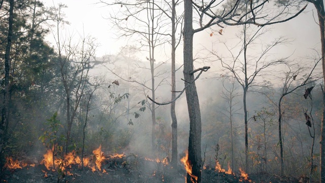
<path id="1" fill-rule="evenodd" d="M 175 47 L 176 47 L 176 38 L 175 38 L 175 15 L 176 7 L 175 0 L 172 1 L 172 100 L 176 98 L 176 69 L 175 69 Z M 175 102 L 171 104 L 171 117 L 172 117 L 172 166 L 176 167 L 177 165 L 177 117 L 175 112 Z"/>

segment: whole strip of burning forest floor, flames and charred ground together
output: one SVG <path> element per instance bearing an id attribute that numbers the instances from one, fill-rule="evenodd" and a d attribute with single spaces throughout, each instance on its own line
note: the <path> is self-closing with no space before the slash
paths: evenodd
<path id="1" fill-rule="evenodd" d="M 191 182 L 186 181 L 186 171 L 191 172 L 187 155 L 177 167 L 168 159 L 150 159 L 134 154 L 103 153 L 101 146 L 82 161 L 75 152 L 63 159 L 54 157 L 48 150 L 42 160 L 25 156 L 6 158 L 3 182 Z M 195 179 L 195 176 L 192 176 Z M 219 162 L 215 167 L 205 166 L 202 182 L 305 182 L 307 180 L 277 177 L 267 173 L 248 175 L 242 170 L 234 172 L 229 166 L 222 169 Z"/>

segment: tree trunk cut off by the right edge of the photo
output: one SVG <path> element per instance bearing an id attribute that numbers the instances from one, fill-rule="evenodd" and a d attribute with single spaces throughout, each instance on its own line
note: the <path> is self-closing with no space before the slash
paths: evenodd
<path id="1" fill-rule="evenodd" d="M 311 1 L 313 2 L 318 15 L 319 29 L 320 29 L 320 43 L 321 43 L 321 64 L 323 68 L 323 78 L 325 78 L 325 28 L 324 28 L 324 3 L 322 0 Z M 325 80 L 323 81 L 323 87 L 325 90 Z M 323 93 L 323 117 L 321 120 L 321 134 L 320 134 L 320 177 L 319 182 L 325 182 L 325 127 L 324 127 L 324 117 L 325 117 L 325 93 Z"/>

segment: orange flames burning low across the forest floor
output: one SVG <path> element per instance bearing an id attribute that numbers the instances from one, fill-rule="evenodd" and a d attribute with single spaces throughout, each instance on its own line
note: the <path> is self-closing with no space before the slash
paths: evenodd
<path id="1" fill-rule="evenodd" d="M 42 168 L 40 171 L 43 178 L 49 178 L 53 177 L 53 172 L 59 172 L 59 175 L 64 177 L 64 175 L 67 177 L 69 176 L 73 180 L 75 180 L 78 176 L 80 176 L 80 173 L 78 171 L 81 171 L 80 168 L 82 166 L 82 161 L 79 156 L 76 155 L 76 151 L 71 151 L 70 153 L 64 155 L 64 156 L 58 156 L 55 155 L 53 157 L 53 151 L 52 149 L 48 149 L 46 153 L 43 155 L 43 160 L 40 161 L 40 165 L 43 164 L 45 167 L 39 167 Z M 127 163 L 127 158 L 129 156 L 125 156 L 124 154 L 112 154 L 112 155 L 107 155 L 105 157 L 104 152 L 102 151 L 102 146 L 100 145 L 98 148 L 92 150 L 92 156 L 88 156 L 83 158 L 83 165 L 84 167 L 88 168 L 88 170 L 92 170 L 92 172 L 101 172 L 101 176 L 105 174 L 109 174 L 110 171 L 114 170 L 116 171 L 116 168 L 126 168 L 129 169 L 130 167 L 133 166 L 133 164 L 128 164 Z M 132 156 L 135 157 L 135 156 Z M 54 162 L 53 162 L 54 158 Z M 153 170 L 153 174 L 150 174 L 150 178 L 159 178 L 161 181 L 166 181 L 166 177 L 168 177 L 168 173 L 166 174 L 165 172 L 165 167 L 169 163 L 168 158 L 164 159 L 150 159 L 144 157 L 143 159 L 138 159 L 136 160 L 137 163 L 134 165 L 139 166 L 139 164 L 143 165 L 148 165 L 145 162 L 148 161 L 150 162 L 150 165 L 156 164 L 156 167 L 160 167 L 157 169 Z M 140 163 L 142 162 L 142 163 Z M 192 165 L 188 161 L 188 153 L 181 159 L 181 162 L 184 164 L 184 168 L 186 170 L 187 175 L 184 176 L 185 182 L 197 182 L 198 177 L 196 175 L 192 174 Z M 54 166 L 53 166 L 54 163 Z M 159 166 L 157 166 L 159 165 Z M 11 157 L 6 158 L 6 164 L 5 167 L 8 170 L 14 169 L 22 169 L 22 170 L 28 170 L 28 168 L 25 167 L 35 167 L 35 164 L 27 164 L 24 163 L 23 161 L 18 161 L 15 160 Z M 76 168 L 78 167 L 78 168 Z M 105 167 L 105 168 L 104 168 Z M 164 171 L 162 171 L 161 167 L 164 167 Z M 36 167 L 37 168 L 37 167 Z M 110 170 L 111 168 L 111 170 Z M 236 180 L 240 182 L 252 182 L 252 180 L 248 179 L 247 173 L 245 173 L 242 169 L 240 170 L 240 174 L 238 176 L 235 176 L 235 173 L 232 171 L 230 164 L 228 164 L 228 170 L 226 171 L 225 169 L 222 169 L 221 165 L 219 162 L 216 162 L 215 165 L 215 170 L 211 169 L 204 169 L 206 171 L 210 172 L 215 172 L 215 173 L 222 173 L 222 177 L 226 178 L 230 181 Z M 125 171 L 125 170 L 124 170 Z M 52 173 L 50 173 L 52 172 Z M 212 173 L 213 174 L 213 173 Z M 211 174 L 211 175 L 212 175 Z M 170 178 L 170 177 L 169 177 Z M 183 178 L 183 177 L 182 177 Z M 184 180 L 184 179 L 183 179 Z M 168 182 L 168 181 L 167 181 Z"/>

